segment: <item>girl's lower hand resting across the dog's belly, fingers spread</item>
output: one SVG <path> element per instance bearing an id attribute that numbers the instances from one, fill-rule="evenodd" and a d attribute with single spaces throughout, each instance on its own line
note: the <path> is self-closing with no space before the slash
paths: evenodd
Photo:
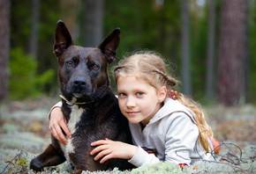
<path id="1" fill-rule="evenodd" d="M 104 163 L 111 158 L 122 158 L 122 159 L 131 159 L 134 156 L 137 146 L 127 144 L 121 141 L 110 141 L 109 139 L 94 141 L 91 143 L 91 146 L 98 146 L 91 151 L 91 155 L 98 153 L 94 160 L 102 158 L 100 163 Z"/>

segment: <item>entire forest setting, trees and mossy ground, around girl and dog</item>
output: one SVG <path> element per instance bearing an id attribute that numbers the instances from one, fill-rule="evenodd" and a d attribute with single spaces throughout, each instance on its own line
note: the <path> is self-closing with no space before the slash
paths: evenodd
<path id="1" fill-rule="evenodd" d="M 109 69 L 114 90 L 112 67 L 125 54 L 162 54 L 181 81 L 176 90 L 206 109 L 222 155 L 234 156 L 228 143 L 237 149 L 228 165 L 239 169 L 229 172 L 255 173 L 256 0 L 0 0 L 0 173 L 28 173 L 30 160 L 49 144 L 47 115 L 60 100 L 52 53 L 59 19 L 85 47 L 120 27 Z M 199 170 L 228 173 L 219 165 Z"/>

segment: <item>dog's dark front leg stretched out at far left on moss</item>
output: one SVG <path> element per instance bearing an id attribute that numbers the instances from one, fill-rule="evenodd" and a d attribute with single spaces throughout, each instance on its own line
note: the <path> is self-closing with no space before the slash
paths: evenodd
<path id="1" fill-rule="evenodd" d="M 30 162 L 30 169 L 42 171 L 44 167 L 58 165 L 64 163 L 65 160 L 63 152 L 55 149 L 52 144 L 49 144 L 48 148 L 41 155 L 36 156 Z"/>

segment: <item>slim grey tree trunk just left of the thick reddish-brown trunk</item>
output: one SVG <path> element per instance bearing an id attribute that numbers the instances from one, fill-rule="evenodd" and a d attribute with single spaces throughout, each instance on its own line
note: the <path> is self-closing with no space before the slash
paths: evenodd
<path id="1" fill-rule="evenodd" d="M 214 98 L 215 65 L 215 0 L 209 0 L 208 38 L 207 38 L 207 86 L 206 100 Z"/>

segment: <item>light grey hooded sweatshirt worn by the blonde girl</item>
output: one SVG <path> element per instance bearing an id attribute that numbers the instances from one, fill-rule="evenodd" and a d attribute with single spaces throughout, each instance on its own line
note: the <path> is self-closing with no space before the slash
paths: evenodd
<path id="1" fill-rule="evenodd" d="M 139 147 L 129 162 L 137 167 L 160 161 L 190 165 L 200 159 L 214 160 L 200 144 L 194 113 L 177 100 L 166 98 L 143 129 L 139 123 L 129 126 L 132 141 Z M 157 155 L 148 154 L 142 147 L 154 149 Z"/>

